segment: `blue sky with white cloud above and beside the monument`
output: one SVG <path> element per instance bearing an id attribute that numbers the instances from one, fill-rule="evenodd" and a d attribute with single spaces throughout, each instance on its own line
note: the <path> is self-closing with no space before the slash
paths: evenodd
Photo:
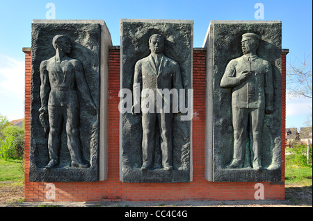
<path id="1" fill-rule="evenodd" d="M 287 62 L 311 55 L 312 63 L 312 1 L 0 0 L 0 114 L 9 120 L 24 117 L 22 48 L 31 46 L 32 20 L 46 19 L 47 3 L 54 3 L 56 19 L 104 20 L 113 45 L 120 45 L 120 19 L 193 20 L 194 47 L 202 47 L 211 20 L 255 20 L 255 4 L 262 3 L 264 20 L 282 21 L 282 48 L 289 49 Z M 287 127 L 305 126 L 310 113 L 312 100 L 288 98 Z"/>

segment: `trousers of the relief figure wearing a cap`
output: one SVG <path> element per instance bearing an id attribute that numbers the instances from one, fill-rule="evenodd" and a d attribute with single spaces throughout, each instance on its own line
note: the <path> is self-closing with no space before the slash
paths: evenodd
<path id="1" fill-rule="evenodd" d="M 252 135 L 253 162 L 261 165 L 262 128 L 264 108 L 232 108 L 232 124 L 234 127 L 234 160 L 243 162 L 246 150 L 248 123 Z"/>

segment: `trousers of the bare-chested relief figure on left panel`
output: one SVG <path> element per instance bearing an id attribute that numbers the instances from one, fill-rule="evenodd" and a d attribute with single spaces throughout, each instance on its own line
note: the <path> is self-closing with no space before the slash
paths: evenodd
<path id="1" fill-rule="evenodd" d="M 79 107 L 48 106 L 49 137 L 48 150 L 50 159 L 58 161 L 61 148 L 61 134 L 65 123 L 67 148 L 72 162 L 82 163 L 81 141 L 79 137 Z"/>

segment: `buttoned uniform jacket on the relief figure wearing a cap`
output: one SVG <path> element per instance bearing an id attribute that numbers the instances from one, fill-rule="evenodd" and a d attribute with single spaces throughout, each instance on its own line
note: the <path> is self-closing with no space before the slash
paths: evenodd
<path id="1" fill-rule="evenodd" d="M 240 82 L 241 71 L 254 71 Z M 273 109 L 273 73 L 271 63 L 262 58 L 243 55 L 231 60 L 225 69 L 220 87 L 232 88 L 232 107 Z"/>

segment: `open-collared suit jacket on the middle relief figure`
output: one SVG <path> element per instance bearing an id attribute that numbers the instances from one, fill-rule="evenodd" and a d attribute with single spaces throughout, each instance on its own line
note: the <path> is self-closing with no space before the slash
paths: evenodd
<path id="1" fill-rule="evenodd" d="M 161 61 L 159 67 L 156 66 L 152 55 L 150 54 L 146 58 L 138 60 L 135 65 L 134 73 L 134 85 L 133 85 L 133 96 L 134 105 L 138 105 L 145 99 L 143 96 L 141 99 L 141 91 L 143 89 L 151 89 L 154 91 L 154 104 L 157 103 L 157 89 L 182 89 L 182 76 L 180 73 L 179 64 L 174 60 L 161 55 Z M 139 93 L 139 94 L 138 94 Z M 162 97 L 164 98 L 164 96 Z M 166 100 L 166 103 L 172 104 L 172 100 Z"/>

